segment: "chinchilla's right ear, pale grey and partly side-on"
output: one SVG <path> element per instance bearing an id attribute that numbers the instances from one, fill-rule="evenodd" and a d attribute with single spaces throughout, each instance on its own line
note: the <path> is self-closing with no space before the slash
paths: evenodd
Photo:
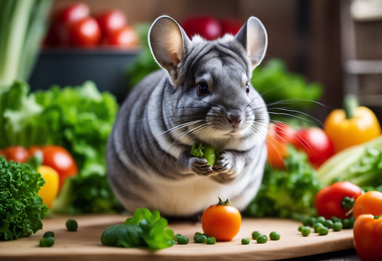
<path id="1" fill-rule="evenodd" d="M 238 41 L 247 51 L 253 69 L 259 65 L 267 50 L 268 37 L 264 25 L 254 16 L 251 16 L 235 35 Z"/>

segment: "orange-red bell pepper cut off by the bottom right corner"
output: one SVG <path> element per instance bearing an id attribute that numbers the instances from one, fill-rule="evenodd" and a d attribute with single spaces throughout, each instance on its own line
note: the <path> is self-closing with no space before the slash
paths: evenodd
<path id="1" fill-rule="evenodd" d="M 362 214 L 353 226 L 353 244 L 363 261 L 382 259 L 382 217 Z"/>

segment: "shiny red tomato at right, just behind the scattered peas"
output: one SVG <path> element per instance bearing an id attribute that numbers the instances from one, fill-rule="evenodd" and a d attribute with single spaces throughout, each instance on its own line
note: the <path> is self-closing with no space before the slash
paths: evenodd
<path id="1" fill-rule="evenodd" d="M 322 188 L 314 198 L 314 206 L 316 207 L 317 214 L 326 219 L 330 217 L 348 218 L 346 212 L 349 209 L 344 209 L 341 201 L 344 197 L 358 198 L 362 195 L 362 190 L 357 185 L 348 182 L 336 182 L 333 185 Z"/>

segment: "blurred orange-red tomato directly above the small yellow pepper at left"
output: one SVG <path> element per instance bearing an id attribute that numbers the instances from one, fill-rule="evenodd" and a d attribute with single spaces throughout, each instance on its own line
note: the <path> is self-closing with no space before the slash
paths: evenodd
<path id="1" fill-rule="evenodd" d="M 77 164 L 69 151 L 57 145 L 49 145 L 42 148 L 44 155 L 43 165 L 49 166 L 58 172 L 60 176 L 60 188 L 67 177 L 78 173 Z"/>

